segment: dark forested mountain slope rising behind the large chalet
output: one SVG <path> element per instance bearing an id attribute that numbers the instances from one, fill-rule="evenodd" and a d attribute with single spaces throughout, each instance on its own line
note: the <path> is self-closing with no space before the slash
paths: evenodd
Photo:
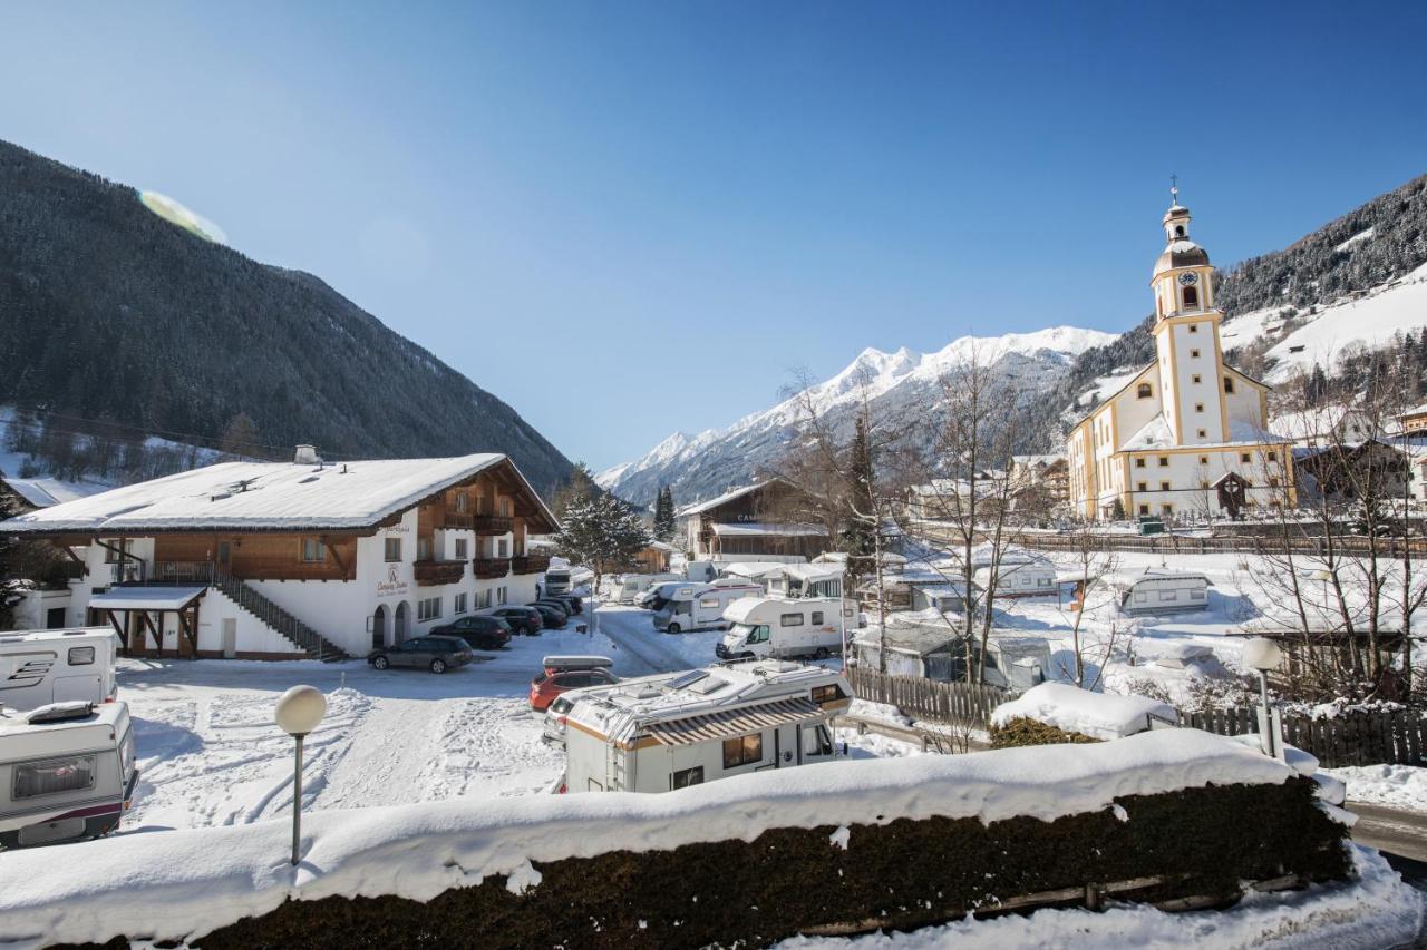
<path id="1" fill-rule="evenodd" d="M 521 354 L 511 354 L 521 358 Z M 511 407 L 321 280 L 253 261 L 134 188 L 0 143 L 0 404 L 338 458 L 569 461 Z"/>

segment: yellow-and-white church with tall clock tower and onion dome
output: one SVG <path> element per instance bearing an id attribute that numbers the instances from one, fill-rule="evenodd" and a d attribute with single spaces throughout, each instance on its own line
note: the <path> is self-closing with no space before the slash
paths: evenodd
<path id="1" fill-rule="evenodd" d="M 1209 254 L 1189 208 L 1164 213 L 1154 261 L 1156 358 L 1067 439 L 1070 505 L 1089 519 L 1217 516 L 1294 504 L 1289 441 L 1267 431 L 1269 387 L 1224 364 Z"/>

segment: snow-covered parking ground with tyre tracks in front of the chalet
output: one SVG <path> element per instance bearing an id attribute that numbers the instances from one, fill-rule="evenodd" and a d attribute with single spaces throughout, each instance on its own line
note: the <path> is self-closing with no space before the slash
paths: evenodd
<path id="1" fill-rule="evenodd" d="M 589 623 L 586 609 L 579 622 Z M 586 635 L 517 636 L 504 650 L 441 676 L 378 672 L 365 662 L 120 660 L 120 696 L 137 727 L 141 777 L 124 834 L 245 824 L 288 814 L 293 740 L 273 703 L 295 683 L 327 693 L 307 739 L 304 809 L 347 809 L 451 797 L 541 795 L 564 772 L 564 750 L 541 740 L 529 683 L 549 653 L 601 653 L 621 676 L 715 660 L 719 633 L 658 633 L 648 611 L 605 606 Z M 839 730 L 855 757 L 910 746 Z"/>

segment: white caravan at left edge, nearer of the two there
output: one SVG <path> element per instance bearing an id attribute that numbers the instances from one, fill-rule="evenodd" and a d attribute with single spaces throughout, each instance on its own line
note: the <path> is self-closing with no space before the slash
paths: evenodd
<path id="1" fill-rule="evenodd" d="M 108 834 L 137 779 L 126 703 L 0 716 L 0 850 Z"/>

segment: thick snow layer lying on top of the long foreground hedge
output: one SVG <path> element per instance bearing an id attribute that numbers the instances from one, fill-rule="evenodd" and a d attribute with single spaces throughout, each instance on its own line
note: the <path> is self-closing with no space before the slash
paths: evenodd
<path id="1" fill-rule="evenodd" d="M 288 897 L 395 894 L 431 900 L 492 874 L 539 887 L 531 862 L 696 842 L 751 842 L 773 827 L 889 823 L 899 817 L 1055 820 L 1129 795 L 1207 785 L 1280 785 L 1283 763 L 1209 733 L 1160 730 L 1095 746 L 1042 746 L 765 772 L 666 795 L 457 799 L 318 812 L 303 862 L 291 826 L 116 836 L 0 854 L 0 933 L 14 947 L 116 936 L 186 940 Z M 73 869 L 83 867 L 83 873 Z"/>

